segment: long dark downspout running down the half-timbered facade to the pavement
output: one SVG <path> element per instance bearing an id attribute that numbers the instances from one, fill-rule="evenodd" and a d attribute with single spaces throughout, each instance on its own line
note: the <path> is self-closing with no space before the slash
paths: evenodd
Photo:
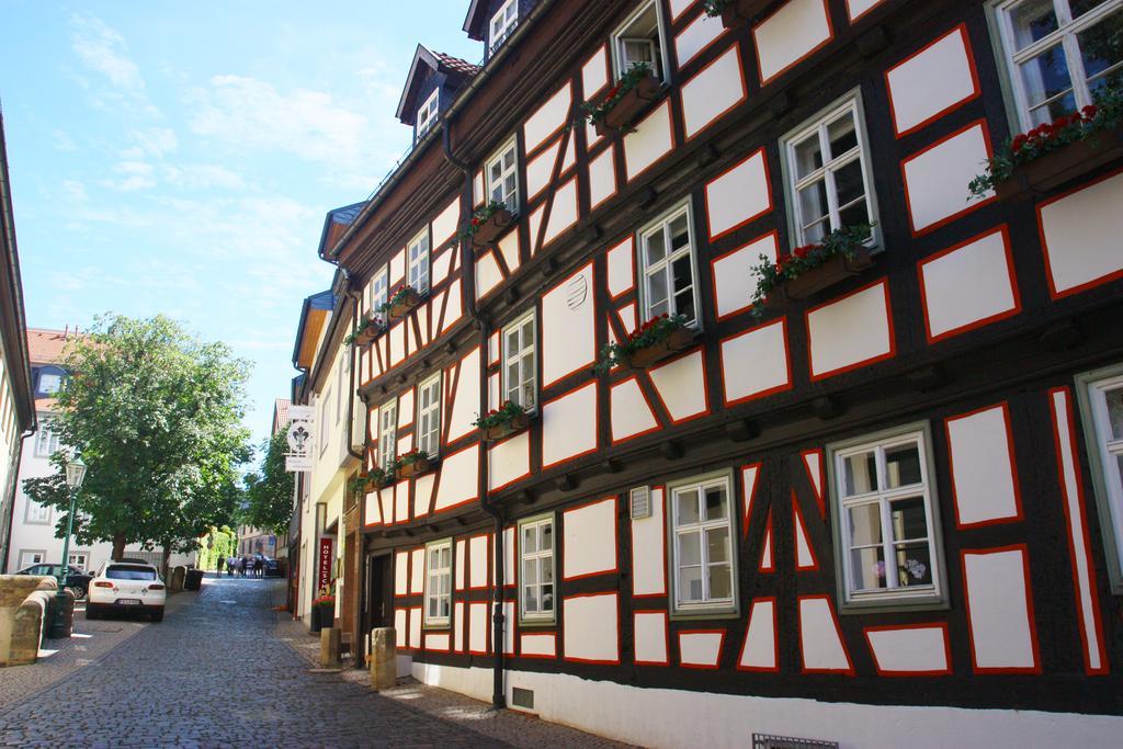
<path id="1" fill-rule="evenodd" d="M 451 147 L 451 131 L 453 131 L 453 120 L 446 116 L 445 127 L 441 128 L 441 147 L 445 152 L 445 158 L 448 163 L 458 168 L 464 173 L 464 180 L 466 185 L 472 184 L 472 168 L 464 162 L 457 161 L 453 156 Z M 463 192 L 462 192 L 463 198 Z M 469 199 L 469 204 L 472 200 Z M 476 330 L 480 331 L 480 350 L 484 353 L 480 357 L 480 403 L 485 404 L 487 402 L 487 339 L 491 336 L 491 326 L 487 320 L 480 314 L 480 309 L 476 307 L 476 274 L 475 274 L 475 258 L 473 257 L 472 243 L 462 241 L 460 243 L 460 268 L 463 268 L 464 274 L 464 295 L 466 298 L 465 309 L 467 310 L 468 318 L 475 323 Z M 478 479 L 476 484 L 476 494 L 480 497 L 480 506 L 483 511 L 490 514 L 495 520 L 495 581 L 494 591 L 492 593 L 492 652 L 495 654 L 495 666 L 492 674 L 492 707 L 495 710 L 502 710 L 506 707 L 506 689 L 503 685 L 503 670 L 505 667 L 504 656 L 503 656 L 503 639 L 504 639 L 504 615 L 503 615 L 503 586 L 505 584 L 503 579 L 503 574 L 505 572 L 505 565 L 503 564 L 505 557 L 503 554 L 503 512 L 500 508 L 495 506 L 491 497 L 487 495 L 487 448 L 481 440 L 480 450 L 480 471 L 477 472 Z"/>

